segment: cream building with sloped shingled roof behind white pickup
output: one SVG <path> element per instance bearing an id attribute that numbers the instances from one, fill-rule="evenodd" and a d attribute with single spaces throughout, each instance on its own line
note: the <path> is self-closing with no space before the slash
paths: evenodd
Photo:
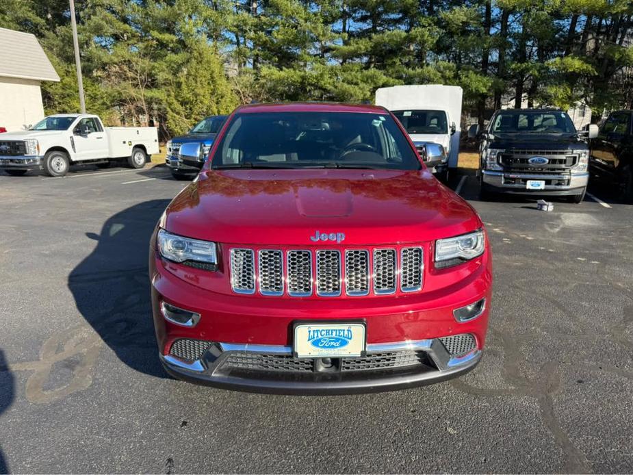
<path id="1" fill-rule="evenodd" d="M 41 120 L 40 83 L 59 80 L 34 35 L 0 28 L 0 127 L 16 131 Z"/>

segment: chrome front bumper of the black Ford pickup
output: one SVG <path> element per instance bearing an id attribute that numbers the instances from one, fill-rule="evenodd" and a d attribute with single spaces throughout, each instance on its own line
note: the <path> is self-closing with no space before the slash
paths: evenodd
<path id="1" fill-rule="evenodd" d="M 481 173 L 483 187 L 498 193 L 566 196 L 582 193 L 589 182 L 589 172 L 539 174 L 481 170 Z M 528 190 L 526 180 L 543 180 L 545 189 Z"/>

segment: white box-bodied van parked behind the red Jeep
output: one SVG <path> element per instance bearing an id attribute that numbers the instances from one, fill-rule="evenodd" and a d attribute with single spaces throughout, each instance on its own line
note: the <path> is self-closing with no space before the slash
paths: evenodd
<path id="1" fill-rule="evenodd" d="M 448 169 L 457 168 L 462 96 L 459 86 L 393 86 L 376 90 L 376 105 L 393 112 L 411 136 L 426 166 L 446 179 Z M 443 146 L 445 156 L 427 160 L 424 144 L 428 142 Z"/>

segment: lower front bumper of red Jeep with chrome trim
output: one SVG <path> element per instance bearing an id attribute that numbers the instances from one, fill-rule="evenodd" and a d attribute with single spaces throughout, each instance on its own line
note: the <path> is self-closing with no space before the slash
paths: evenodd
<path id="1" fill-rule="evenodd" d="M 417 363 L 399 368 L 387 368 L 383 355 L 406 352 L 419 355 Z M 292 358 L 289 346 L 213 343 L 204 354 L 194 361 L 185 361 L 172 355 L 160 355 L 165 370 L 175 378 L 240 391 L 271 394 L 353 394 L 406 389 L 431 383 L 439 383 L 472 370 L 480 361 L 482 352 L 473 348 L 458 357 L 450 355 L 439 339 L 415 342 L 367 345 L 367 357 L 354 361 L 378 361 L 370 363 L 383 367 L 364 368 L 357 371 L 308 371 L 255 370 L 257 363 L 246 363 L 246 368 L 231 367 L 232 357 L 237 361 L 257 361 L 258 355 L 266 361 L 286 358 L 292 365 L 305 368 L 305 361 Z M 288 361 L 288 360 L 286 360 Z M 269 363 L 270 364 L 270 363 Z M 261 366 L 261 365 L 259 365 Z M 270 368 L 270 366 L 269 366 Z M 260 368 L 261 369 L 261 368 Z"/>

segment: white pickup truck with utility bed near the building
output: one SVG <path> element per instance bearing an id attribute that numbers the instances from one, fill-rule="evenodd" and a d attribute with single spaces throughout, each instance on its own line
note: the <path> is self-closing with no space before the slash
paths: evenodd
<path id="1" fill-rule="evenodd" d="M 0 136 L 0 170 L 20 176 L 43 169 L 63 177 L 71 164 L 105 168 L 125 159 L 132 168 L 142 168 L 158 152 L 155 127 L 103 127 L 91 114 L 55 114 L 29 130 Z"/>

